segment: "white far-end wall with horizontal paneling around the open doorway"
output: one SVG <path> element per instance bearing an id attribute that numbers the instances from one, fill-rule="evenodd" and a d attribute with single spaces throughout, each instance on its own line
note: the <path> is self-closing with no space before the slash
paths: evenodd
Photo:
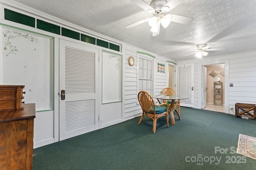
<path id="1" fill-rule="evenodd" d="M 235 114 L 235 103 L 256 104 L 256 51 L 181 61 L 178 65 L 189 63 L 194 63 L 195 108 L 200 108 L 199 102 L 201 102 L 201 66 L 219 63 L 229 63 L 225 65 L 225 78 L 228 77 L 227 80 L 225 79 L 228 90 L 228 95 L 225 94 L 228 101 L 228 109 L 227 111 L 225 109 L 225 113 Z M 230 83 L 233 83 L 233 87 L 229 87 Z"/>

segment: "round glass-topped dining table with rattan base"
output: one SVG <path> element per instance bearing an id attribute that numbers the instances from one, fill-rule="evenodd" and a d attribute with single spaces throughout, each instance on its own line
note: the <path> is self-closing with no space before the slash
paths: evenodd
<path id="1" fill-rule="evenodd" d="M 169 108 L 170 108 L 169 112 L 170 112 L 171 119 L 172 119 L 172 125 L 175 125 L 175 119 L 174 119 L 174 114 L 173 114 L 174 102 L 175 102 L 175 100 L 178 100 L 177 102 L 179 102 L 179 100 L 188 99 L 189 96 L 179 95 L 179 94 L 173 94 L 173 95 L 170 95 L 170 96 L 166 96 L 164 94 L 158 94 L 158 95 L 152 96 L 152 98 L 157 99 L 159 104 L 161 104 L 160 100 L 171 100 L 172 101 L 170 103 L 170 106 L 169 106 Z M 177 113 L 178 113 L 178 111 L 177 111 Z"/>

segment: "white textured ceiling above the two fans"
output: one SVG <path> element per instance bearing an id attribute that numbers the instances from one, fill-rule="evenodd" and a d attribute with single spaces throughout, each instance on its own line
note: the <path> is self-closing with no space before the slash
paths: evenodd
<path id="1" fill-rule="evenodd" d="M 175 61 L 196 59 L 194 54 L 184 55 L 201 43 L 225 48 L 208 56 L 256 50 L 256 0 L 184 0 L 165 14 L 192 17 L 192 23 L 171 22 L 156 37 L 148 23 L 125 27 L 152 16 L 130 0 L 14 1 Z"/>

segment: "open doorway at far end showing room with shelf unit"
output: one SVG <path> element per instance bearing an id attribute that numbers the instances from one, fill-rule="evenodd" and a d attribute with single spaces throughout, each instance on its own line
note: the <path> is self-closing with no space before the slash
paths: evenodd
<path id="1" fill-rule="evenodd" d="M 202 70 L 204 70 L 202 71 L 202 109 L 224 113 L 225 64 L 204 65 Z M 218 86 L 220 91 L 216 91 L 214 82 L 218 82 L 218 85 L 222 84 Z"/>

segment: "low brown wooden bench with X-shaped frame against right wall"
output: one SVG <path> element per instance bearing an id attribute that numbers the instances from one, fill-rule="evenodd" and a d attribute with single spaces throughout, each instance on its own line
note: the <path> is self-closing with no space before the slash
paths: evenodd
<path id="1" fill-rule="evenodd" d="M 252 111 L 253 111 L 253 114 L 252 114 Z M 256 104 L 236 103 L 235 116 L 248 117 L 256 120 Z"/>

